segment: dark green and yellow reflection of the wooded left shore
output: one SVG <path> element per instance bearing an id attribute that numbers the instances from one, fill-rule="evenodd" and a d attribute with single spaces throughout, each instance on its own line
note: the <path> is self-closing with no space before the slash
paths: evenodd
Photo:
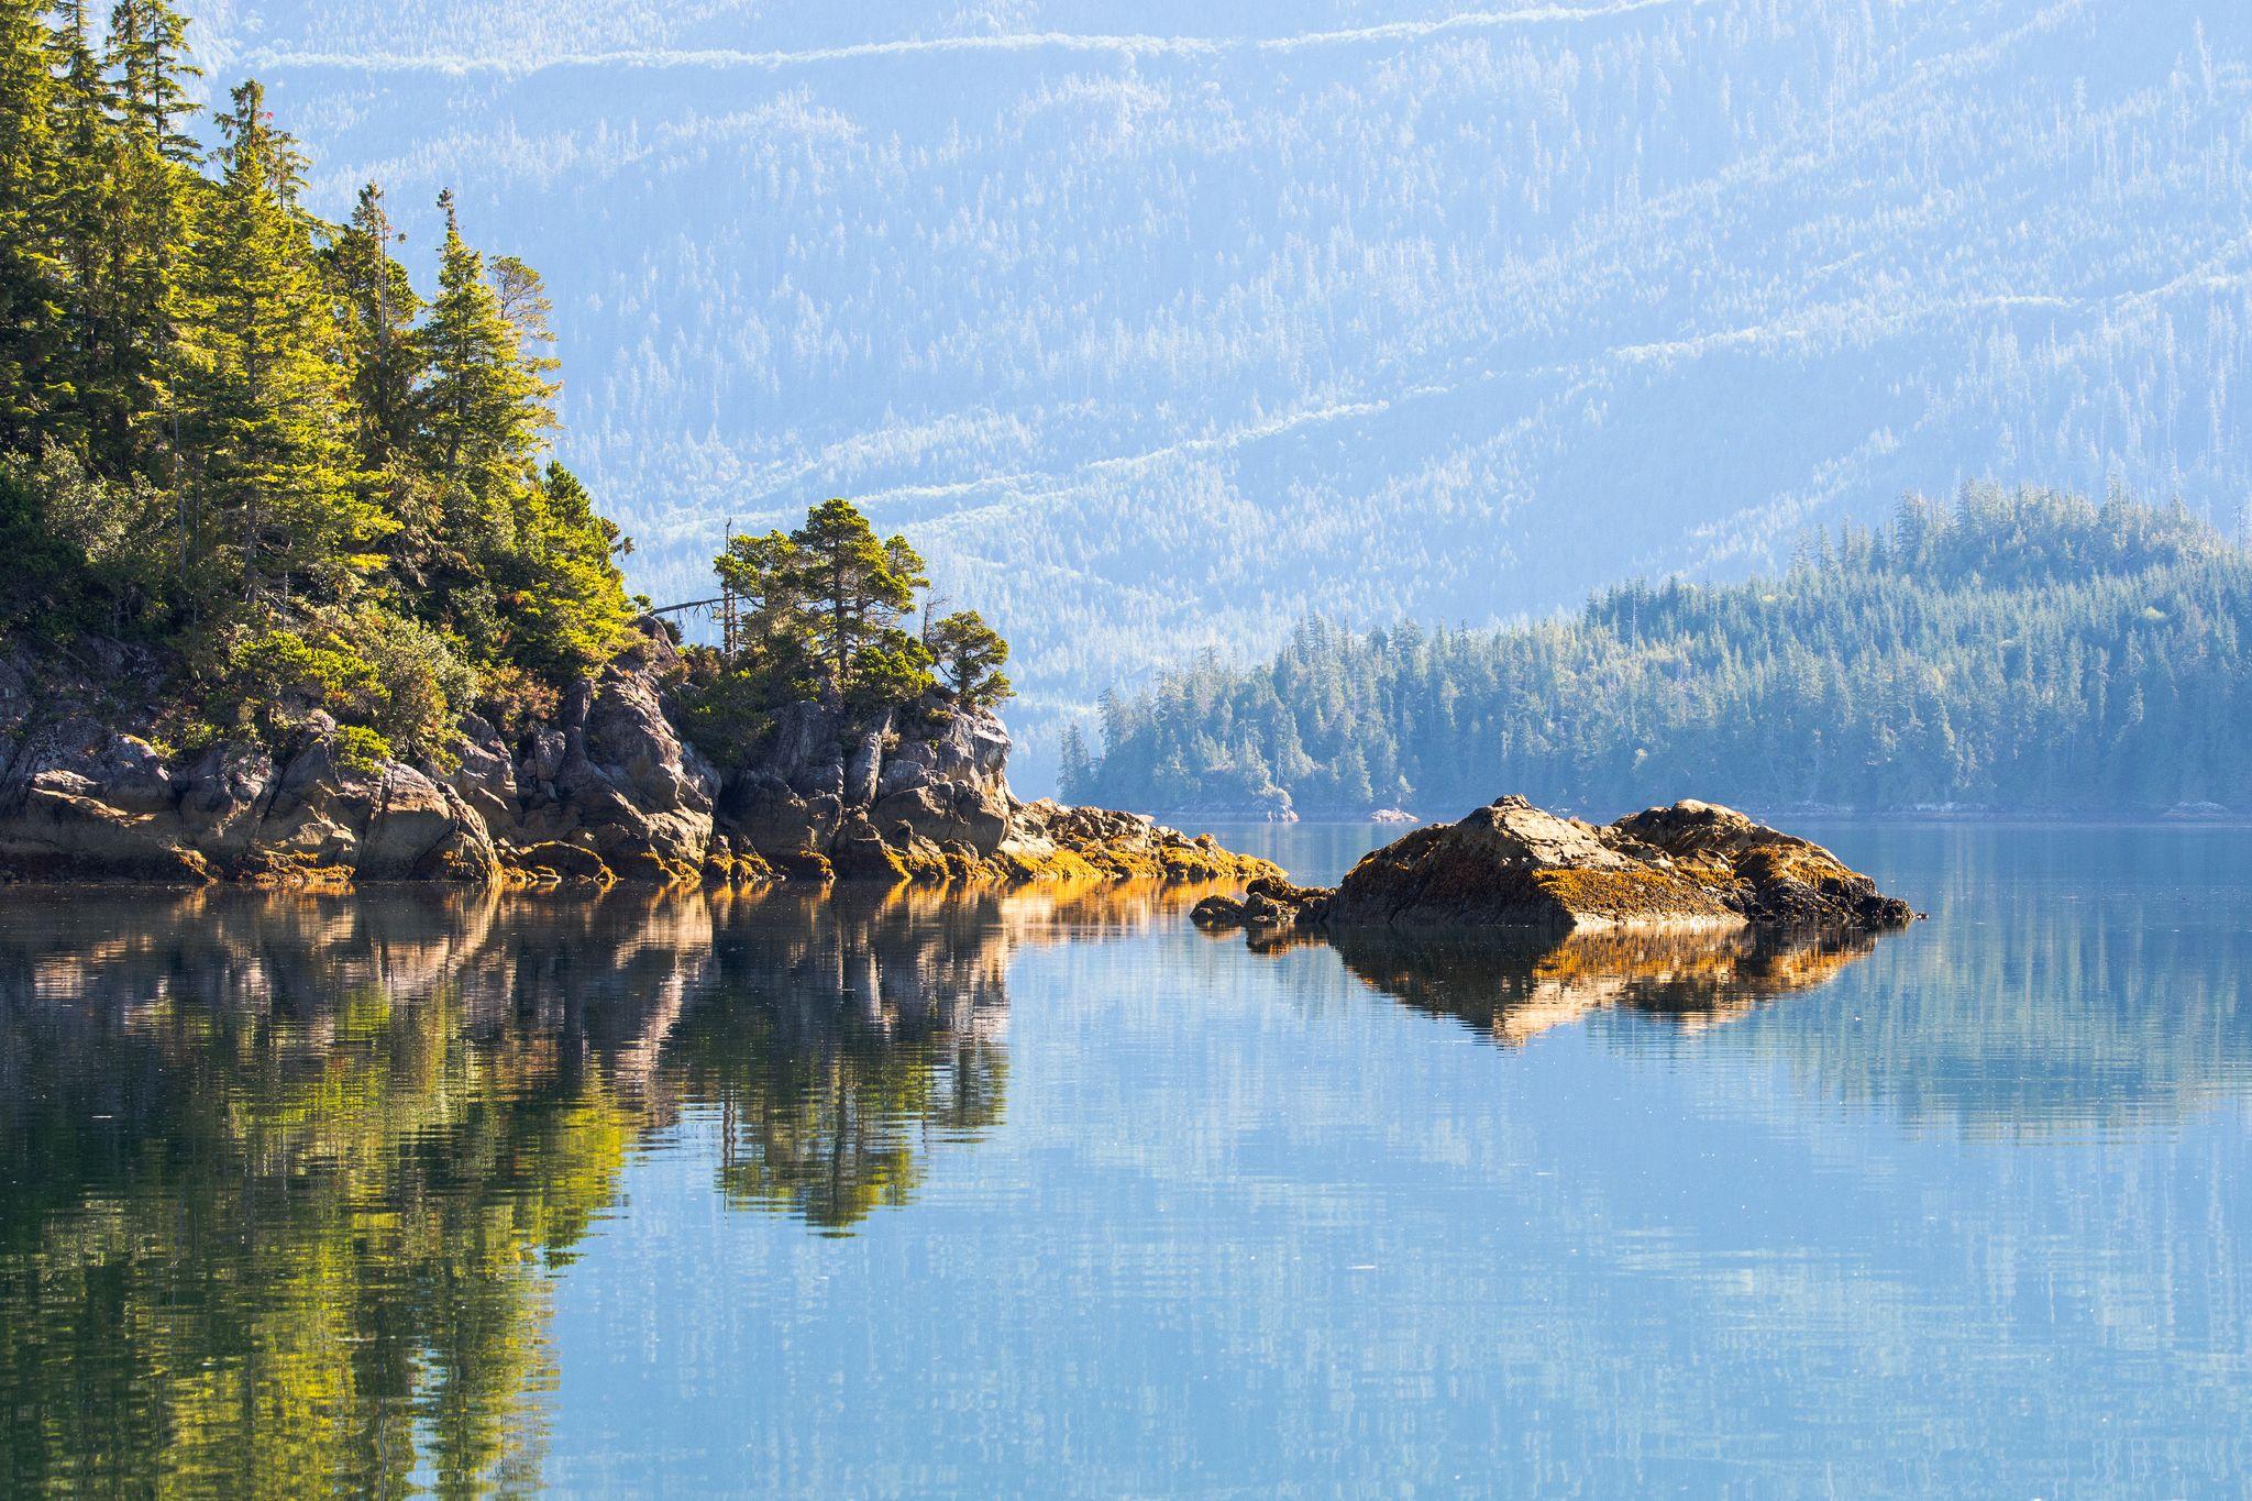
<path id="1" fill-rule="evenodd" d="M 847 1233 L 1000 1121 L 1009 954 L 1155 911 L 11 896 L 0 1494 L 534 1485 L 637 1141 L 716 1118 L 730 1204 Z"/>

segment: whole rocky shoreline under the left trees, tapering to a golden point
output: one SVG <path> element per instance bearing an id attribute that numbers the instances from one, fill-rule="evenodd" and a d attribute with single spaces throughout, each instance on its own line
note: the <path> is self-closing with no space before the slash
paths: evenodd
<path id="1" fill-rule="evenodd" d="M 324 716 L 293 745 L 162 743 L 131 648 L 0 659 L 0 880 L 768 882 L 1279 880 L 1153 819 L 1022 801 L 1009 734 L 932 695 L 851 725 L 793 704 L 743 765 L 678 731 L 671 637 L 640 641 L 513 736 L 468 716 L 453 756 L 354 765 Z"/>

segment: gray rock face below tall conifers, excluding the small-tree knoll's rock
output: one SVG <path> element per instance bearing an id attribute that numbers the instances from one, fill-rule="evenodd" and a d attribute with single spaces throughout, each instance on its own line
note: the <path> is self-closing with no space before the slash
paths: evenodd
<path id="1" fill-rule="evenodd" d="M 122 659 L 97 693 L 7 662 L 0 875 L 491 880 L 525 848 L 570 844 L 608 871 L 687 880 L 712 846 L 721 779 L 664 716 L 673 662 L 651 630 L 513 747 L 468 718 L 444 770 L 340 765 L 322 713 L 279 765 L 248 743 L 167 761 L 155 711 L 119 707 L 137 689 L 155 700 L 146 664 Z"/>

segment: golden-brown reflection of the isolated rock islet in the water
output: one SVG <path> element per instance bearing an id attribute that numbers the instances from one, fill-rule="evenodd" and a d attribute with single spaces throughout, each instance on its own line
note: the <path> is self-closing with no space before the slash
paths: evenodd
<path id="1" fill-rule="evenodd" d="M 1324 938 L 1367 986 L 1455 1017 L 1502 1046 L 1624 1008 L 1684 1031 L 1808 990 L 1876 947 L 1869 934 L 1428 936 L 1340 929 Z"/>

